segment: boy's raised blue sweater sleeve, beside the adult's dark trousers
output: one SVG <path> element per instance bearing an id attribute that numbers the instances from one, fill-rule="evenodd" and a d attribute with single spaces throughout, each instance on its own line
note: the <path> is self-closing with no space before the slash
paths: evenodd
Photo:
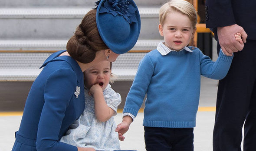
<path id="1" fill-rule="evenodd" d="M 216 62 L 213 62 L 210 57 L 204 55 L 200 51 L 200 68 L 201 75 L 210 79 L 223 79 L 232 62 L 233 56 L 226 56 L 221 50 Z"/>

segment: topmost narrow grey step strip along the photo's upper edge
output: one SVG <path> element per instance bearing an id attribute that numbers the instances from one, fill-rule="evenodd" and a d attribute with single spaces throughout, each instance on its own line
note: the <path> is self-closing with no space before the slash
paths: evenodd
<path id="1" fill-rule="evenodd" d="M 0 7 L 67 7 L 90 6 L 98 0 L 0 0 Z M 137 6 L 161 6 L 167 0 L 134 0 Z"/>

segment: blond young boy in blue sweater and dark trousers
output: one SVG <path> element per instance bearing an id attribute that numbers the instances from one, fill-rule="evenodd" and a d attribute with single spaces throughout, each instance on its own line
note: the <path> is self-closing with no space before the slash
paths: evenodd
<path id="1" fill-rule="evenodd" d="M 233 56 L 220 51 L 213 62 L 197 47 L 186 47 L 197 23 L 197 13 L 187 1 L 170 0 L 159 14 L 164 41 L 141 60 L 126 98 L 123 122 L 116 131 L 124 140 L 147 94 L 143 120 L 146 150 L 193 151 L 200 76 L 223 79 Z M 234 38 L 242 41 L 240 33 Z"/>

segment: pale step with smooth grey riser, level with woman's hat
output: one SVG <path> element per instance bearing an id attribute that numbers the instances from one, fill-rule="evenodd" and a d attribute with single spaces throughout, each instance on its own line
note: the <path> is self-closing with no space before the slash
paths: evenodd
<path id="1" fill-rule="evenodd" d="M 0 31 L 4 39 L 68 40 L 91 8 L 1 8 Z M 139 8 L 139 39 L 161 39 L 158 9 Z"/>

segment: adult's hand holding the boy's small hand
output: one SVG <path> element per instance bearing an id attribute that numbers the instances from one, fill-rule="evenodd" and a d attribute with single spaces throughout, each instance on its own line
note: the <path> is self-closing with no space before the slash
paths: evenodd
<path id="1" fill-rule="evenodd" d="M 242 41 L 246 43 L 247 34 L 243 30 L 243 27 L 239 25 L 229 25 L 224 27 L 218 27 L 218 39 L 220 47 L 226 56 L 232 56 L 233 52 L 243 50 L 244 44 L 236 41 L 234 35 L 239 32 L 242 35 Z"/>

